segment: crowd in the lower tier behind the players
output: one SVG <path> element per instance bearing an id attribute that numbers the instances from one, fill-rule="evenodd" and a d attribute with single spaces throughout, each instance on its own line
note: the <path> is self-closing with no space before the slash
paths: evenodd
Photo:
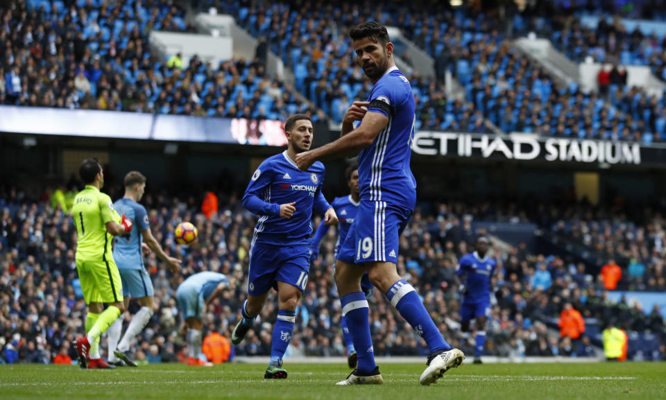
<path id="1" fill-rule="evenodd" d="M 121 195 L 110 190 L 114 199 Z M 0 356 L 3 363 L 50 363 L 56 357 L 66 361 L 67 356 L 76 359 L 70 342 L 76 333 L 83 331 L 85 304 L 74 261 L 76 229 L 66 211 L 73 193 L 56 189 L 32 195 L 10 188 L 0 193 Z M 241 208 L 235 193 L 218 195 L 219 206 L 212 209 L 210 196 L 207 196 L 205 211 L 210 218 L 200 211 L 200 202 L 194 197 L 183 200 L 163 193 L 148 193 L 144 198 L 155 238 L 166 252 L 182 259 L 183 269 L 180 275 L 171 275 L 154 254 L 146 256 L 146 268 L 155 286 L 157 311 L 133 347 L 141 362 L 185 359 L 187 352 L 180 331 L 182 321 L 174 291 L 182 280 L 195 272 L 222 272 L 228 275 L 232 287 L 205 313 L 205 329 L 229 336 L 239 318 L 239 306 L 246 296 L 248 251 L 256 218 Z M 473 342 L 468 342 L 460 331 L 457 260 L 471 252 L 475 238 L 484 234 L 484 229 L 472 228 L 475 221 L 529 220 L 530 214 L 520 215 L 512 210 L 515 209 L 493 205 L 468 207 L 459 202 L 423 205 L 413 215 L 401 238 L 399 274 L 418 288 L 445 338 L 462 349 L 472 351 Z M 578 215 L 556 207 L 550 214 L 540 215 L 550 218 L 540 223 L 554 230 L 561 229 L 561 234 L 590 236 L 589 240 L 583 238 L 590 248 L 604 243 L 618 252 L 635 256 L 636 260 L 629 266 L 618 267 L 621 278 L 613 268 L 606 267 L 606 272 L 601 270 L 599 276 L 593 276 L 584 264 L 575 265 L 560 256 L 529 254 L 524 246 L 495 245 L 494 254 L 501 268 L 493 280 L 497 291 L 491 295 L 493 307 L 488 319 L 486 354 L 518 358 L 599 356 L 590 345 L 590 340 L 594 339 L 591 334 L 566 333 L 567 336 L 559 338 L 552 330 L 558 329 L 562 311 L 568 309 L 566 304 L 572 304 L 584 318 L 615 322 L 627 331 L 654 333 L 660 338 L 659 351 L 664 354 L 664 320 L 658 308 L 642 310 L 640 304 L 627 304 L 624 300 L 611 302 L 606 293 L 607 289 L 615 288 L 607 285 L 615 279 L 613 277 L 620 279 L 621 286 L 633 289 L 666 290 L 663 219 L 656 218 L 644 226 L 625 225 L 619 214 L 611 214 L 617 224 L 606 225 L 595 222 L 595 216 L 603 218 L 601 214 L 585 211 Z M 320 220 L 316 217 L 316 224 Z M 558 223 L 559 220 L 563 222 Z M 198 247 L 174 242 L 173 230 L 182 221 L 191 221 L 198 228 Z M 311 265 L 288 355 L 345 354 L 339 328 L 340 302 L 332 280 L 334 244 L 335 229 L 331 229 L 321 243 L 319 258 Z M 642 268 L 635 266 L 636 263 L 642 263 Z M 382 293 L 375 290 L 370 304 L 375 354 L 427 355 L 420 338 L 397 318 Z M 130 306 L 130 312 L 136 311 L 133 307 Z M 269 299 L 254 329 L 233 349 L 234 354 L 252 356 L 270 352 L 274 307 L 273 299 Z"/>

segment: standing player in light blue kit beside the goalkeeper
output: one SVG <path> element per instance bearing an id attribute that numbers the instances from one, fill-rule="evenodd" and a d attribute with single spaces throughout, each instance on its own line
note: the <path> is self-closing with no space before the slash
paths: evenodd
<path id="1" fill-rule="evenodd" d="M 153 282 L 144 267 L 144 243 L 147 251 L 153 251 L 169 266 L 171 272 L 180 271 L 180 260 L 167 256 L 160 243 L 153 236 L 151 226 L 148 224 L 148 214 L 139 201 L 146 190 L 146 177 L 138 171 L 130 171 L 125 175 L 125 196 L 114 203 L 115 209 L 130 218 L 135 229 L 117 236 L 114 241 L 113 259 L 116 261 L 120 278 L 123 284 L 123 298 L 125 309 L 128 309 L 130 296 L 137 299 L 141 306 L 130 321 L 122 340 L 122 315 L 115 320 L 108 331 L 109 335 L 109 363 L 118 366 L 136 367 L 130 354 L 132 340 L 146 327 L 154 311 Z M 120 343 L 118 343 L 120 341 Z"/>

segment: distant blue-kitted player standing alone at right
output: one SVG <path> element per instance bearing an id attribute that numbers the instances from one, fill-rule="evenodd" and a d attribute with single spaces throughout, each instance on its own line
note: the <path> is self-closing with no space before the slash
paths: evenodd
<path id="1" fill-rule="evenodd" d="M 484 354 L 486 346 L 486 320 L 490 315 L 490 279 L 492 279 L 497 263 L 494 259 L 486 256 L 488 238 L 480 236 L 477 239 L 476 251 L 466 254 L 460 259 L 456 272 L 461 276 L 459 290 L 462 294 L 460 306 L 461 329 L 468 335 L 470 321 L 476 319 L 475 328 L 475 358 L 474 363 L 481 363 L 481 355 Z"/>

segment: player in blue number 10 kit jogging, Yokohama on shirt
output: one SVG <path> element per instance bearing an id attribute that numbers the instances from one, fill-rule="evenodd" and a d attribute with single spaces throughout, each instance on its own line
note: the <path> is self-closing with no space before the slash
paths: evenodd
<path id="1" fill-rule="evenodd" d="M 296 155 L 312 144 L 314 131 L 309 116 L 290 116 L 284 131 L 287 150 L 259 165 L 243 196 L 243 207 L 261 218 L 250 245 L 248 299 L 241 307 L 243 318 L 231 336 L 232 343 L 239 344 L 264 308 L 268 291 L 271 287 L 278 290 L 278 320 L 273 327 L 271 362 L 265 379 L 287 378 L 282 356 L 291 342 L 296 304 L 307 284 L 312 209 L 324 214 L 326 225 L 338 223 L 335 211 L 321 193 L 323 164 L 312 163 L 301 171 L 294 162 Z"/>

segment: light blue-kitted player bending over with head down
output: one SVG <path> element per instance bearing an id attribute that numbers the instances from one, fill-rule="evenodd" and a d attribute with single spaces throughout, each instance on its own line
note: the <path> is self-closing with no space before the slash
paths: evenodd
<path id="1" fill-rule="evenodd" d="M 201 320 L 203 311 L 217 297 L 230 289 L 229 280 L 224 274 L 204 271 L 190 275 L 178 286 L 176 300 L 178 309 L 185 320 L 187 334 L 187 365 L 191 367 L 212 367 L 213 363 L 199 358 L 201 353 Z"/>

